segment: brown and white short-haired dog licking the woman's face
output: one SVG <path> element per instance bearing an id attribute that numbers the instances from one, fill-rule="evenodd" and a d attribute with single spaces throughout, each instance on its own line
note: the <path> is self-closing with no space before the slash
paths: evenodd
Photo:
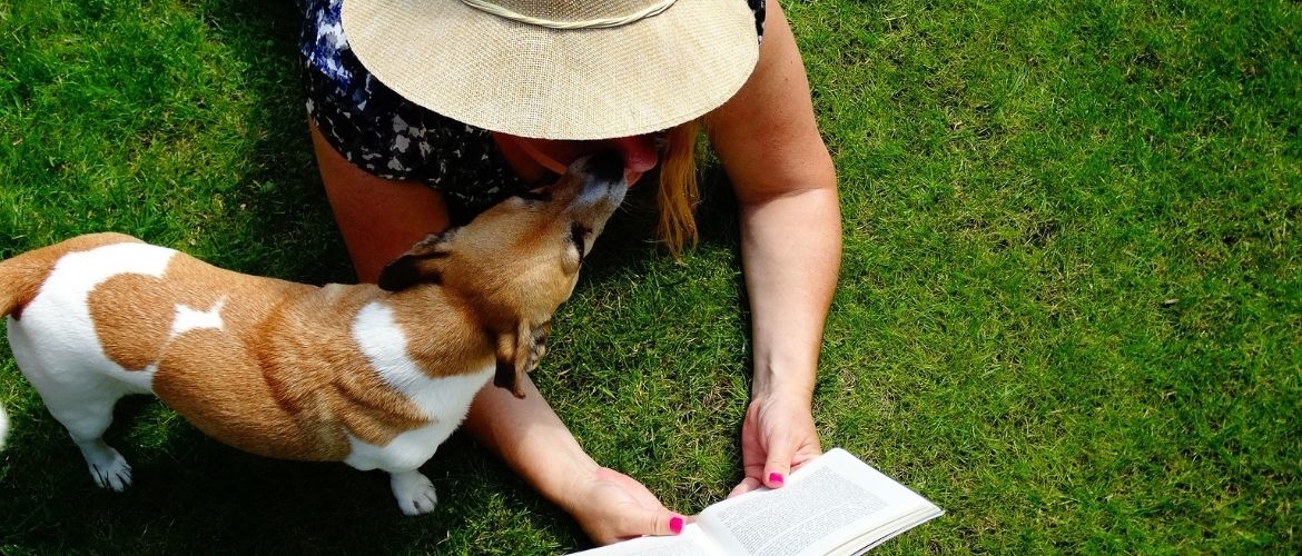
<path id="1" fill-rule="evenodd" d="M 418 467 L 488 379 L 523 397 L 552 313 L 626 189 L 618 156 L 582 159 L 556 185 L 421 241 L 379 286 L 249 276 L 129 236 L 81 236 L 0 262 L 0 314 L 100 487 L 132 482 L 102 439 L 113 405 L 152 392 L 232 447 L 385 470 L 414 516 L 436 501 Z"/>

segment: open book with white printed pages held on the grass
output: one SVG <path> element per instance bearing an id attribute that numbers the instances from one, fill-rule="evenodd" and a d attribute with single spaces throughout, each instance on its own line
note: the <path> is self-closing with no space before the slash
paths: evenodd
<path id="1" fill-rule="evenodd" d="M 858 555 L 944 510 L 836 448 L 783 488 L 760 488 L 700 512 L 681 535 L 642 536 L 583 556 Z"/>

